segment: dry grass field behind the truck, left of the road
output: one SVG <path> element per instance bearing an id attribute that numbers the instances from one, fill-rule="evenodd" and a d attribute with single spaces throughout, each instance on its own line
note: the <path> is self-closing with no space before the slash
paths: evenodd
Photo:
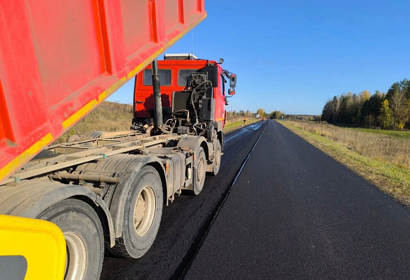
<path id="1" fill-rule="evenodd" d="M 89 114 L 80 119 L 73 127 L 59 136 L 54 143 L 66 142 L 72 134 L 88 135 L 92 131 L 121 131 L 128 130 L 132 120 L 132 105 L 104 101 Z M 258 119 L 249 118 L 247 124 Z M 226 119 L 223 131 L 225 133 L 241 127 L 243 116 L 234 116 Z"/>

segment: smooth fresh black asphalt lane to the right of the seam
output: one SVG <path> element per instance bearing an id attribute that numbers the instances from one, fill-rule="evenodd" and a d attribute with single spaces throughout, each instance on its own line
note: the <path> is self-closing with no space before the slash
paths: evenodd
<path id="1" fill-rule="evenodd" d="M 184 279 L 408 279 L 410 211 L 268 121 Z"/>

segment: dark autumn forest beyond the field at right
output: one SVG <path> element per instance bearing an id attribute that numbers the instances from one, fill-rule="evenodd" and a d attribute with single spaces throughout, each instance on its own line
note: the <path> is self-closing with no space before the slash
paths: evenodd
<path id="1" fill-rule="evenodd" d="M 329 99 L 321 119 L 329 123 L 355 124 L 369 128 L 410 128 L 410 80 L 393 83 L 387 93 L 376 90 L 348 92 Z"/>

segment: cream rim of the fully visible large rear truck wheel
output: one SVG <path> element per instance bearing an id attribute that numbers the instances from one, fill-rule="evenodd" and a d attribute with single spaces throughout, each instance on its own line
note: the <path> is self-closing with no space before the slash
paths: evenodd
<path id="1" fill-rule="evenodd" d="M 135 232 L 139 236 L 145 235 L 151 228 L 155 215 L 155 192 L 152 187 L 145 186 L 138 194 L 134 209 Z"/>

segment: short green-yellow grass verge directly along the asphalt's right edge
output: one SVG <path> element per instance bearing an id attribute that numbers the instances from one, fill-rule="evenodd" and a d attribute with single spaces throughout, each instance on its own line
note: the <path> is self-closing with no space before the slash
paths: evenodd
<path id="1" fill-rule="evenodd" d="M 410 208 L 409 168 L 365 157 L 323 136 L 284 121 L 278 122 Z"/>

